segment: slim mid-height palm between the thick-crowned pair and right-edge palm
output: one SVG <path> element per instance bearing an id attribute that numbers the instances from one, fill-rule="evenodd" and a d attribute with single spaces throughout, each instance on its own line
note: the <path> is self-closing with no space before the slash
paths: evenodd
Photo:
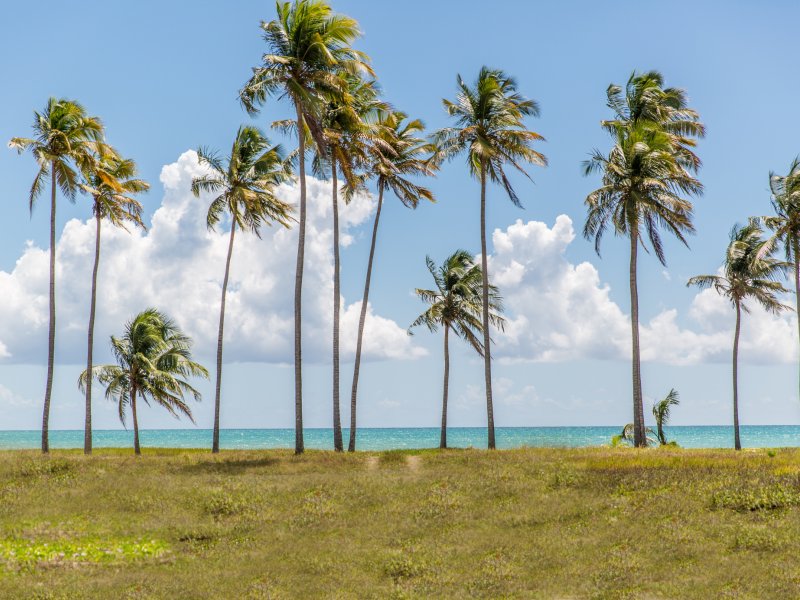
<path id="1" fill-rule="evenodd" d="M 739 332 L 742 311 L 750 312 L 745 302 L 755 300 L 773 314 L 791 310 L 781 304 L 776 296 L 788 291 L 777 280 L 790 265 L 772 257 L 772 242 L 763 240 L 762 233 L 755 219 L 751 219 L 744 227 L 735 226 L 731 230 L 731 241 L 725 253 L 723 273 L 698 275 L 686 284 L 696 285 L 701 289 L 713 287 L 718 294 L 730 300 L 736 309 L 736 328 L 733 334 L 733 436 L 737 450 L 742 449 L 739 439 Z"/>

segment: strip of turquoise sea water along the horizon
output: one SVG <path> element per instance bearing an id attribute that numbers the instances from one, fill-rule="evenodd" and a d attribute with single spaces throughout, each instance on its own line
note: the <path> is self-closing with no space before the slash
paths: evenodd
<path id="1" fill-rule="evenodd" d="M 500 427 L 495 430 L 498 448 L 521 446 L 581 447 L 608 444 L 619 427 Z M 345 445 L 347 444 L 347 429 Z M 732 448 L 730 426 L 667 427 L 667 437 L 684 448 Z M 140 432 L 142 446 L 159 448 L 210 448 L 210 429 L 158 429 Z M 750 448 L 800 446 L 800 426 L 751 425 L 741 428 L 742 445 Z M 453 427 L 447 430 L 448 445 L 454 448 L 486 446 L 486 428 Z M 0 449 L 38 448 L 39 431 L 0 431 Z M 53 448 L 82 448 L 83 431 L 51 431 Z M 95 447 L 133 446 L 133 432 L 103 430 L 94 432 Z M 293 448 L 293 429 L 223 429 L 222 448 L 255 450 Z M 306 429 L 306 448 L 333 448 L 332 429 Z M 385 428 L 360 429 L 359 450 L 393 450 L 402 448 L 435 448 L 439 445 L 439 429 Z"/>

